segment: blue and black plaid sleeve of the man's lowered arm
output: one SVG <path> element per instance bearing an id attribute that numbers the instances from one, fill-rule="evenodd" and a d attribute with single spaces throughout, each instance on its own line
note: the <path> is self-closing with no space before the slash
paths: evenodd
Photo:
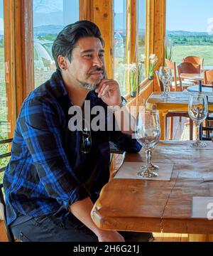
<path id="1" fill-rule="evenodd" d="M 57 113 L 53 103 L 33 98 L 23 105 L 19 127 L 45 191 L 69 208 L 90 195 L 69 165 L 62 146 L 61 117 Z"/>

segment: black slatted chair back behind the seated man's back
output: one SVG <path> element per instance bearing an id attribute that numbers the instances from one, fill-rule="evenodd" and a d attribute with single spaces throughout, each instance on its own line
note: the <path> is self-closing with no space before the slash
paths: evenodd
<path id="1" fill-rule="evenodd" d="M 12 139 L 4 139 L 0 141 L 0 145 L 1 144 L 7 144 L 9 142 L 12 142 Z M 6 157 L 11 156 L 11 153 L 4 153 L 4 154 L 0 154 L 0 159 L 4 159 Z M 1 167 L 0 169 L 0 174 L 4 172 L 4 170 L 6 169 L 6 166 Z M 4 225 L 5 225 L 5 230 L 6 230 L 6 236 L 9 240 L 9 242 L 14 242 L 14 236 L 13 233 L 11 231 L 11 228 L 9 227 L 9 225 L 6 224 L 6 205 L 5 205 L 5 201 L 4 201 L 4 192 L 3 192 L 3 183 L 0 183 L 0 215 L 1 215 L 1 219 L 4 220 Z M 0 219 L 0 220 L 1 220 Z"/>

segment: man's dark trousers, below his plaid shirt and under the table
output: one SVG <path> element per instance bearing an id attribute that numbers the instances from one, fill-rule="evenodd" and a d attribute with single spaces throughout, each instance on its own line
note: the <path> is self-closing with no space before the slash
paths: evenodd
<path id="1" fill-rule="evenodd" d="M 63 220 L 54 214 L 31 218 L 23 223 L 16 220 L 11 225 L 11 230 L 23 242 L 98 242 L 97 236 L 71 213 Z M 152 233 L 120 233 L 126 242 L 153 240 Z"/>

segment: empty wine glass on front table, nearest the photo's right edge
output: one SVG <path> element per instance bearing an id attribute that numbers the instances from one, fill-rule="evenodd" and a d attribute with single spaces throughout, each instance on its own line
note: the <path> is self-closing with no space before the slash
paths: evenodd
<path id="1" fill-rule="evenodd" d="M 191 144 L 192 147 L 204 147 L 206 143 L 200 142 L 200 124 L 207 118 L 208 114 L 208 102 L 207 97 L 201 93 L 190 95 L 190 101 L 188 105 L 188 113 L 192 121 L 197 126 L 197 139 L 196 142 Z"/>

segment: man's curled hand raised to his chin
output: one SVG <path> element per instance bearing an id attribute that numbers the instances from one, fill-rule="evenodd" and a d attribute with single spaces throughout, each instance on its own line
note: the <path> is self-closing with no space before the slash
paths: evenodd
<path id="1" fill-rule="evenodd" d="M 100 97 L 108 106 L 121 105 L 121 92 L 119 84 L 115 80 L 103 79 L 95 92 L 98 93 L 98 97 Z"/>

